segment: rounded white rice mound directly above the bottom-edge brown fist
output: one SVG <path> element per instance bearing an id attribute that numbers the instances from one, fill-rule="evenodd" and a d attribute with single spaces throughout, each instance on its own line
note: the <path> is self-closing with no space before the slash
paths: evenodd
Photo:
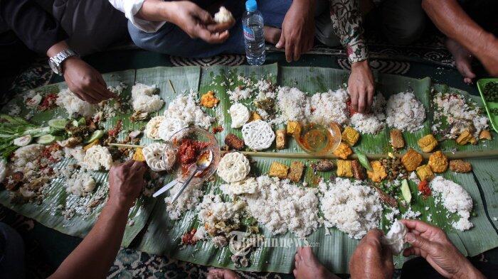
<path id="1" fill-rule="evenodd" d="M 375 229 L 382 217 L 378 194 L 361 181 L 337 177 L 334 182 L 320 182 L 320 209 L 326 227 L 336 227 L 353 239 L 361 239 Z"/>

